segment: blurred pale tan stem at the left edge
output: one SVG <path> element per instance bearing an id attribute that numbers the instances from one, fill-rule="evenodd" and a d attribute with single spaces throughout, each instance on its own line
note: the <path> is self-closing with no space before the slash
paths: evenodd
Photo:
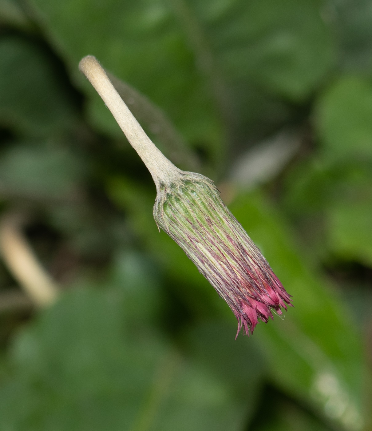
<path id="1" fill-rule="evenodd" d="M 37 260 L 22 233 L 22 217 L 8 213 L 0 221 L 0 250 L 14 278 L 36 306 L 52 304 L 58 296 L 58 287 Z"/>

